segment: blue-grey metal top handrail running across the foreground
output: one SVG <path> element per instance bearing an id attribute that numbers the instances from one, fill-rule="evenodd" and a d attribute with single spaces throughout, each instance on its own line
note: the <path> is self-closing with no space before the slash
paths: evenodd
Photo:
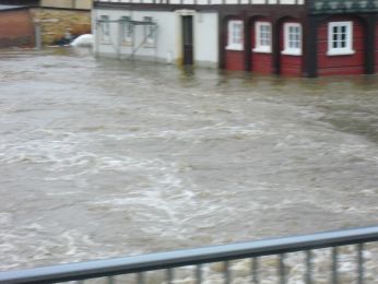
<path id="1" fill-rule="evenodd" d="M 378 226 L 0 273 L 0 283 L 57 283 L 378 241 Z"/>

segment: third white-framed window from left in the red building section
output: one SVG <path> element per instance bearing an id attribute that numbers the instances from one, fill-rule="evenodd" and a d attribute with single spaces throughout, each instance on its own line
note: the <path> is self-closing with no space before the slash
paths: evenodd
<path id="1" fill-rule="evenodd" d="M 302 55 L 302 26 L 297 23 L 284 24 L 284 50 L 283 55 Z"/>

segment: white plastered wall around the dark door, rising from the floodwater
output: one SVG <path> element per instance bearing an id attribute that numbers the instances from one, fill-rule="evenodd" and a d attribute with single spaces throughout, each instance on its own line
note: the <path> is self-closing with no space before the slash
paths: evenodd
<path id="1" fill-rule="evenodd" d="M 127 10 L 93 10 L 93 21 L 101 15 L 108 15 L 109 20 L 119 20 L 130 16 L 133 21 L 142 21 L 144 16 L 152 16 L 157 24 L 154 47 L 142 45 L 135 52 L 137 59 L 157 60 L 176 63 L 182 58 L 181 15 L 193 15 L 194 63 L 200 66 L 217 66 L 218 60 L 218 24 L 217 13 L 196 13 L 194 11 L 127 11 Z M 93 24 L 95 35 L 95 51 L 98 55 L 130 58 L 132 48 L 138 47 L 143 38 L 143 26 L 135 26 L 133 46 L 119 44 L 119 24 L 109 23 L 110 37 L 104 43 L 101 39 L 99 26 Z"/>

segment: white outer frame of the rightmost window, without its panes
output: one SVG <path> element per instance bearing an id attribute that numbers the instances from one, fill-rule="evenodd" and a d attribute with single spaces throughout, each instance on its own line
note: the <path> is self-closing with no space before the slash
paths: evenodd
<path id="1" fill-rule="evenodd" d="M 333 47 L 333 29 L 334 27 L 345 27 L 345 47 Z M 338 42 L 342 40 L 340 38 Z M 354 55 L 353 50 L 353 22 L 352 21 L 343 21 L 343 22 L 330 22 L 328 23 L 328 56 L 345 56 L 345 55 Z"/>

